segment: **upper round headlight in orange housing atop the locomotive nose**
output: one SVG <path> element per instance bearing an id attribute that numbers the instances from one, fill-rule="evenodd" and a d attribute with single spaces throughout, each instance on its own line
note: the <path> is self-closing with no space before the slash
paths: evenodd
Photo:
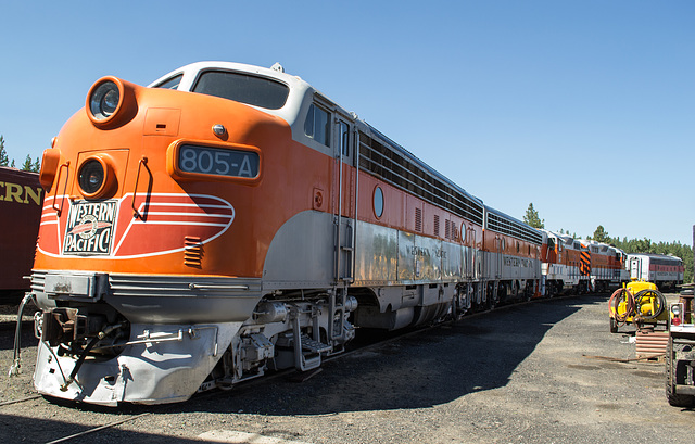
<path id="1" fill-rule="evenodd" d="M 137 87 L 109 76 L 97 80 L 87 93 L 87 116 L 99 128 L 113 128 L 125 124 L 137 114 Z"/>

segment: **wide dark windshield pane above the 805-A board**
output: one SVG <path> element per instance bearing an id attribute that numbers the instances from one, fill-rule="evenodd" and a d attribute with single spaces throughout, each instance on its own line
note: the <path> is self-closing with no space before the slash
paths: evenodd
<path id="1" fill-rule="evenodd" d="M 192 91 L 268 110 L 279 110 L 285 105 L 290 88 L 267 77 L 207 71 L 200 75 Z"/>

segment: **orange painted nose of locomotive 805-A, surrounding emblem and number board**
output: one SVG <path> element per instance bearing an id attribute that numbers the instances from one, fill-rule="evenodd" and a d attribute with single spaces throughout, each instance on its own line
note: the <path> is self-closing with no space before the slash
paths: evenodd
<path id="1" fill-rule="evenodd" d="M 280 118 L 247 105 L 137 86 L 134 90 L 140 111 L 127 125 L 102 130 L 80 111 L 59 135 L 53 150 L 60 152 L 59 164 L 63 167 L 60 183 L 53 183 L 47 193 L 35 268 L 261 277 L 265 253 L 278 228 L 294 214 L 313 207 L 311 190 L 319 188 L 329 192 L 331 160 L 293 142 L 288 125 Z M 215 124 L 229 128 L 227 140 L 208 130 Z M 180 140 L 256 150 L 261 154 L 260 177 L 248 180 L 210 176 L 201 180 L 198 176 L 195 180 L 186 180 L 186 176 L 173 167 L 176 143 Z M 113 160 L 117 190 L 112 199 L 119 200 L 113 245 L 118 250 L 113 257 L 104 259 L 60 256 L 68 201 L 84 199 L 76 185 L 76 169 L 87 156 L 94 154 Z M 173 175 L 179 176 L 178 180 Z M 190 198 L 195 195 L 210 198 Z M 223 236 L 204 244 L 201 267 L 186 266 L 185 238 L 204 241 L 218 234 L 219 228 L 167 225 L 167 220 L 202 221 L 204 214 L 182 217 L 156 213 L 174 213 L 177 205 L 191 201 L 214 202 L 212 198 L 219 198 L 233 207 L 233 221 Z M 134 206 L 141 212 L 141 217 L 134 217 Z M 154 223 L 161 224 L 162 229 Z M 173 252 L 165 253 L 167 251 Z"/>

